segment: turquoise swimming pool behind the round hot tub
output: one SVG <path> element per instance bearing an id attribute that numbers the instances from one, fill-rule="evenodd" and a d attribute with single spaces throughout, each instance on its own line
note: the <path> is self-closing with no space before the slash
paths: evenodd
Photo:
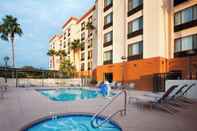
<path id="1" fill-rule="evenodd" d="M 53 101 L 87 100 L 103 96 L 99 91 L 82 88 L 39 89 L 36 90 Z M 115 93 L 111 93 L 111 96 Z"/>

